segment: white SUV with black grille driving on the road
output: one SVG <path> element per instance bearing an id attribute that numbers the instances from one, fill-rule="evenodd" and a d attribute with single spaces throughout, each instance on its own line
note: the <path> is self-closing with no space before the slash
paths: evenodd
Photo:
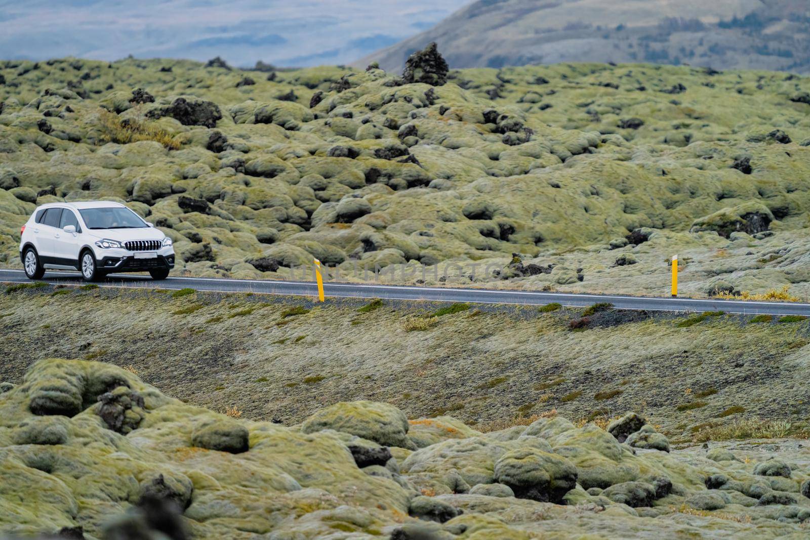
<path id="1" fill-rule="evenodd" d="M 117 202 L 37 206 L 19 232 L 29 279 L 40 279 L 45 269 L 80 270 L 85 281 L 144 271 L 165 279 L 174 267 L 172 239 Z"/>

